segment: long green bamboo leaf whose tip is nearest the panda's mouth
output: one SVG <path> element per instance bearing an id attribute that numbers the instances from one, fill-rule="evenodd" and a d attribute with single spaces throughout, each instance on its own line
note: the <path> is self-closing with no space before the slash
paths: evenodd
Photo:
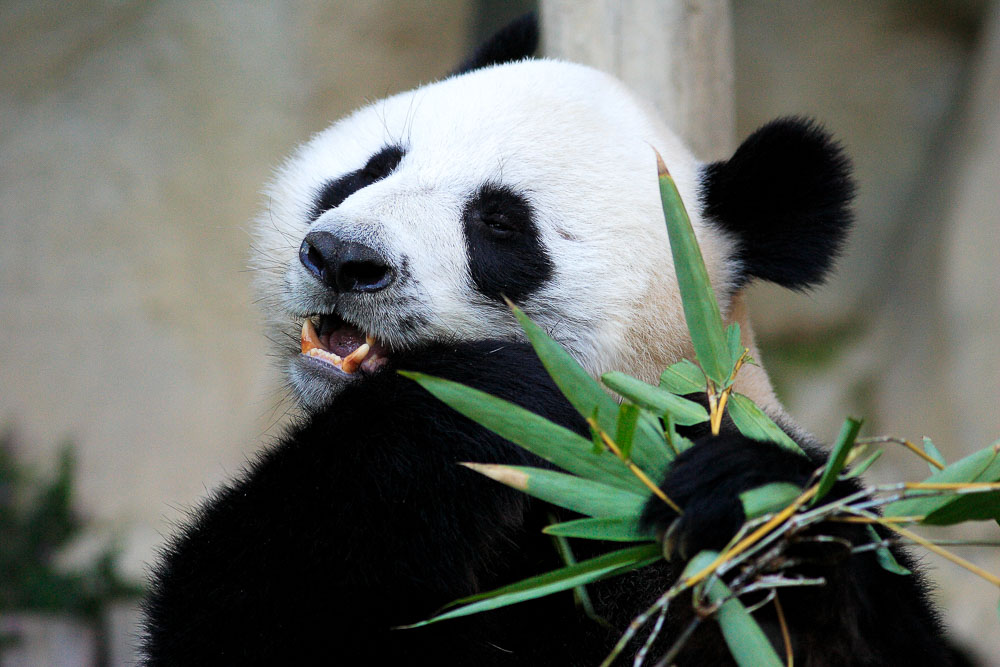
<path id="1" fill-rule="evenodd" d="M 423 373 L 399 373 L 420 383 L 469 419 L 563 470 L 621 489 L 646 489 L 617 457 L 594 454 L 589 440 L 530 410 L 451 380 Z"/>

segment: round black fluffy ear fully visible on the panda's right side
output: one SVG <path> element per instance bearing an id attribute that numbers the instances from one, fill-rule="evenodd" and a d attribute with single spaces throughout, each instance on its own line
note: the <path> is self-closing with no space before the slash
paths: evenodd
<path id="1" fill-rule="evenodd" d="M 802 118 L 771 121 L 708 165 L 701 191 L 705 215 L 740 241 L 743 282 L 792 289 L 823 281 L 851 228 L 853 198 L 843 149 Z"/>

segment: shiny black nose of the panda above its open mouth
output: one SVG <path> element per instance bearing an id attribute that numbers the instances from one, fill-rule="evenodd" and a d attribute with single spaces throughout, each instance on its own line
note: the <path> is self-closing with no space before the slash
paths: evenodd
<path id="1" fill-rule="evenodd" d="M 299 247 L 309 273 L 338 292 L 377 292 L 393 281 L 392 267 L 378 251 L 330 232 L 309 232 Z"/>

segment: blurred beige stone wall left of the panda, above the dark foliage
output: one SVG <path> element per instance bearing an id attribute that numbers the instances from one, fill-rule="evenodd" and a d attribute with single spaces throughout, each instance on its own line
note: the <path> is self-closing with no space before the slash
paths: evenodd
<path id="1" fill-rule="evenodd" d="M 42 465 L 73 438 L 134 574 L 281 416 L 244 268 L 270 168 L 446 73 L 467 5 L 0 9 L 0 424 Z"/>

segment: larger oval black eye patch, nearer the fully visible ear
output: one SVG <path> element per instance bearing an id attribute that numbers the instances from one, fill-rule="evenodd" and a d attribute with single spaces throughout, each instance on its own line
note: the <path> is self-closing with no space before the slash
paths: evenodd
<path id="1" fill-rule="evenodd" d="M 466 203 L 462 223 L 469 273 L 485 296 L 521 301 L 552 277 L 552 260 L 538 236 L 534 211 L 510 187 L 480 187 Z"/>

